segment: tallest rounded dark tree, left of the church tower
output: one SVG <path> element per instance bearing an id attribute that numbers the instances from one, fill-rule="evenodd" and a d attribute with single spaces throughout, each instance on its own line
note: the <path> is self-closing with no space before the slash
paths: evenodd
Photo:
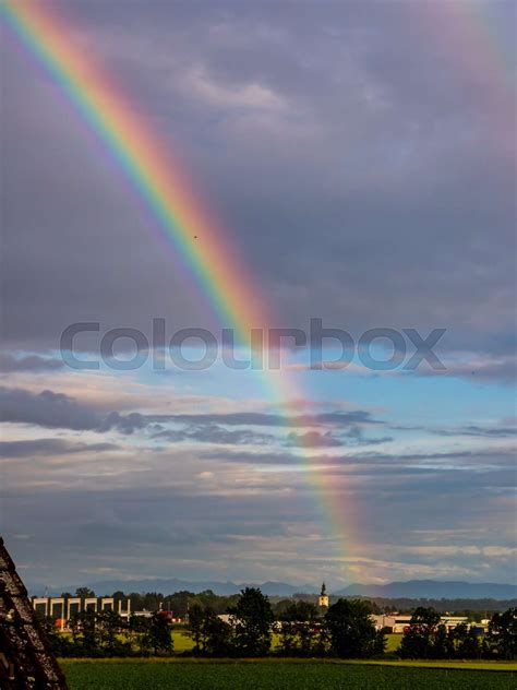
<path id="1" fill-rule="evenodd" d="M 242 656 L 265 656 L 270 649 L 274 621 L 267 596 L 256 587 L 245 587 L 228 612 L 232 619 L 236 652 Z"/>

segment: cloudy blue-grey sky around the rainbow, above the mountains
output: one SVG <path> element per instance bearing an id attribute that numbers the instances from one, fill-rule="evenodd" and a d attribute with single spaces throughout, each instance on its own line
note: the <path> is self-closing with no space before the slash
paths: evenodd
<path id="1" fill-rule="evenodd" d="M 224 228 L 262 328 L 393 329 L 407 354 L 103 360 L 113 328 L 228 324 L 2 27 L 0 518 L 26 582 L 514 581 L 515 5 L 47 4 Z M 98 369 L 63 360 L 75 322 Z M 442 369 L 404 369 L 402 329 L 445 330 Z"/>

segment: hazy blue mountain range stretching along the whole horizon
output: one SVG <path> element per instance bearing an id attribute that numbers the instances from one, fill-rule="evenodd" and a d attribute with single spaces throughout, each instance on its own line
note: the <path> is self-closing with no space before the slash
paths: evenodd
<path id="1" fill-rule="evenodd" d="M 77 585 L 60 587 L 59 590 L 47 588 L 48 595 L 59 595 L 61 592 L 75 592 Z M 264 594 L 269 596 L 292 596 L 303 592 L 304 594 L 315 594 L 320 586 L 314 584 L 292 585 L 285 582 L 263 582 L 262 584 L 235 582 L 195 582 L 177 579 L 153 579 L 153 580 L 107 580 L 104 582 L 86 583 L 98 596 L 109 595 L 117 591 L 125 594 L 130 592 L 160 592 L 161 594 L 172 594 L 181 590 L 189 592 L 203 592 L 212 590 L 218 595 L 237 594 L 245 586 L 260 587 Z M 34 594 L 44 594 L 41 585 L 29 586 Z M 435 580 L 409 580 L 407 582 L 389 582 L 387 584 L 350 584 L 341 590 L 329 588 L 329 594 L 337 596 L 371 596 L 387 599 L 410 598 L 410 599 L 513 599 L 517 598 L 517 585 L 497 584 L 493 582 L 441 582 Z"/>

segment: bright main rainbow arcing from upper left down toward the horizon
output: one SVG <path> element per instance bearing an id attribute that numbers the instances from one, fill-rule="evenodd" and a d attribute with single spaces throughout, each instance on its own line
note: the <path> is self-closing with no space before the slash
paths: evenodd
<path id="1" fill-rule="evenodd" d="M 7 0 L 1 15 L 12 34 L 59 85 L 67 98 L 117 162 L 137 198 L 152 214 L 154 225 L 170 245 L 183 267 L 194 277 L 202 299 L 219 322 L 235 329 L 249 343 L 253 328 L 268 323 L 260 292 L 250 272 L 230 247 L 225 233 L 204 207 L 179 166 L 164 154 L 164 145 L 140 118 L 131 104 L 96 66 L 83 55 L 70 29 L 40 0 Z M 197 241 L 196 237 L 202 238 Z M 262 385 L 268 403 L 289 426 L 292 401 L 303 397 L 287 372 L 267 371 Z M 308 419 L 308 425 L 310 425 Z M 300 469 L 318 497 L 326 518 L 326 533 L 345 562 L 350 554 L 351 518 L 348 490 L 336 485 L 324 462 L 315 461 L 309 448 L 299 449 Z M 347 500 L 344 500 L 344 491 Z"/>

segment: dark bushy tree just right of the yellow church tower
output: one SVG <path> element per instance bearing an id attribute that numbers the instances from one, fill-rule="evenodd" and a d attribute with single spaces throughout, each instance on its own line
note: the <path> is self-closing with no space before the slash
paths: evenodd
<path id="1" fill-rule="evenodd" d="M 383 631 L 375 630 L 368 602 L 338 599 L 325 614 L 330 649 L 341 658 L 382 654 L 386 645 Z"/>

